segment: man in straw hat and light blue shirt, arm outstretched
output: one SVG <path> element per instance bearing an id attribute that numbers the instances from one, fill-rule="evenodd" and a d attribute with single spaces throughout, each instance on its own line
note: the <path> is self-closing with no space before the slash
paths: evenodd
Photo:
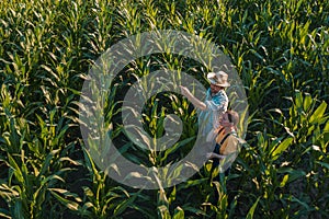
<path id="1" fill-rule="evenodd" d="M 207 90 L 205 102 L 197 100 L 188 88 L 181 87 L 182 94 L 198 110 L 200 123 L 202 123 L 203 135 L 214 132 L 219 127 L 219 117 L 227 111 L 228 97 L 225 89 L 230 84 L 227 82 L 228 74 L 224 71 L 207 74 L 211 88 Z M 209 140 L 211 141 L 211 140 Z"/>

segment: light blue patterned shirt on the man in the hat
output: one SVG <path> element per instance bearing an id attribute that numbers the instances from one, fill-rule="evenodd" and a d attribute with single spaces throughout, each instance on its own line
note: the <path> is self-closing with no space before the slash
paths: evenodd
<path id="1" fill-rule="evenodd" d="M 204 103 L 207 107 L 200 113 L 198 123 L 202 123 L 203 134 L 207 135 L 213 128 L 219 127 L 219 117 L 227 111 L 228 97 L 225 90 L 212 94 L 208 89 Z"/>

